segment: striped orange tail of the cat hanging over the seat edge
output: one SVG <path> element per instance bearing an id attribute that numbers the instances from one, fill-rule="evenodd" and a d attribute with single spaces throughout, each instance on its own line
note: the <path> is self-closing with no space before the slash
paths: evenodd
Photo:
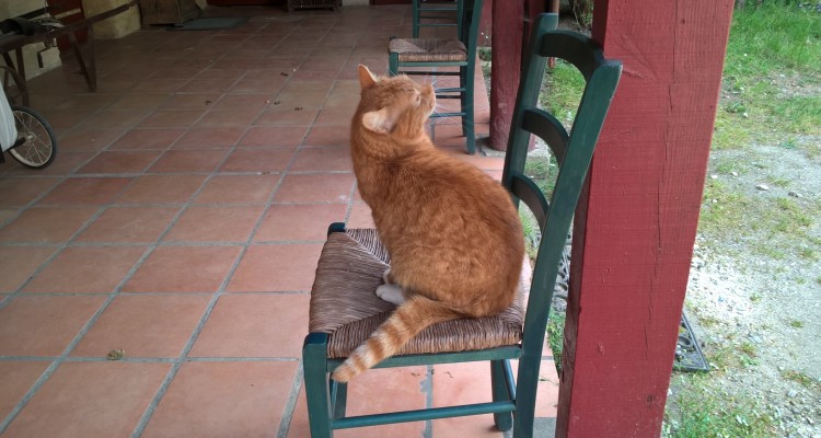
<path id="1" fill-rule="evenodd" d="M 412 296 L 383 322 L 362 345 L 340 365 L 332 379 L 347 382 L 362 371 L 395 355 L 423 330 L 439 322 L 462 318 L 444 304 L 421 296 Z"/>

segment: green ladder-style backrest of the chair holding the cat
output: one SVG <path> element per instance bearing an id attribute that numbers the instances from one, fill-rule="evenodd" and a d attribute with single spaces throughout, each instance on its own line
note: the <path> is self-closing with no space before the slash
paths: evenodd
<path id="1" fill-rule="evenodd" d="M 519 200 L 528 205 L 542 230 L 524 320 L 522 360 L 528 356 L 541 357 L 562 254 L 593 149 L 622 73 L 622 64 L 604 59 L 601 48 L 591 38 L 555 31 L 557 20 L 555 13 L 540 15 L 528 43 L 502 172 L 502 185 L 512 193 L 517 205 Z M 556 117 L 536 107 L 550 57 L 570 62 L 585 78 L 585 90 L 570 132 Z M 524 175 L 531 134 L 550 146 L 558 164 L 550 200 Z"/>

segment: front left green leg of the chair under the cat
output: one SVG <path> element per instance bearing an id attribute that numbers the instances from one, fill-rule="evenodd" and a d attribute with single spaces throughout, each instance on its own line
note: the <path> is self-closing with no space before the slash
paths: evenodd
<path id="1" fill-rule="evenodd" d="M 311 333 L 305 337 L 302 347 L 302 368 L 305 379 L 305 399 L 308 402 L 308 420 L 312 438 L 332 438 L 331 394 L 325 355 L 327 353 L 327 334 Z"/>

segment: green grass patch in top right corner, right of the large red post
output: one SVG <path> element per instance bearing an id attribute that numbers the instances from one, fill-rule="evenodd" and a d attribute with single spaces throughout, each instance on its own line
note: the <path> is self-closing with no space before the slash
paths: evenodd
<path id="1" fill-rule="evenodd" d="M 821 134 L 821 97 L 785 91 L 819 87 L 820 72 L 821 20 L 811 8 L 767 1 L 737 10 L 714 148 L 772 141 L 773 132 Z"/>

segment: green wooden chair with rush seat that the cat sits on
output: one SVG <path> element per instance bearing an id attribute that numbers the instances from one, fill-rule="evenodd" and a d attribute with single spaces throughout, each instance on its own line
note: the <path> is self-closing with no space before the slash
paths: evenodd
<path id="1" fill-rule="evenodd" d="M 551 298 L 590 160 L 621 76 L 621 64 L 604 59 L 590 38 L 555 28 L 557 16 L 540 16 L 525 57 L 524 74 L 513 114 L 513 129 L 505 160 L 502 184 L 513 200 L 524 203 L 543 233 L 533 269 L 527 308 L 512 306 L 493 318 L 465 319 L 424 331 L 403 354 L 378 368 L 489 361 L 493 394 L 487 403 L 346 417 L 347 385 L 328 373 L 391 313 L 393 304 L 374 293 L 390 255 L 375 230 L 346 230 L 332 224 L 316 268 L 305 337 L 303 370 L 313 438 L 334 429 L 493 413 L 501 430 L 531 437 L 539 368 Z M 575 65 L 586 88 L 569 132 L 556 117 L 536 107 L 547 57 Z M 550 145 L 558 174 L 550 201 L 523 174 L 531 134 Z M 528 291 L 522 291 L 522 298 Z M 522 300 L 523 302 L 523 300 Z M 467 347 L 470 346 L 470 347 Z M 509 360 L 519 359 L 518 379 Z M 356 380 L 351 382 L 356 384 Z"/>

